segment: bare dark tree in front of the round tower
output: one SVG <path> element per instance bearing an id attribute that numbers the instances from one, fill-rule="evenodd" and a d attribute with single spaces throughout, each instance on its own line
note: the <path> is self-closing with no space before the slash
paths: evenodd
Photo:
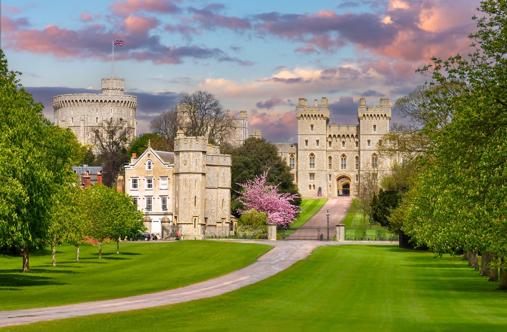
<path id="1" fill-rule="evenodd" d="M 128 162 L 127 147 L 130 129 L 124 126 L 123 119 L 106 120 L 93 128 L 97 156 L 102 163 L 104 185 L 111 187 L 123 163 Z"/>

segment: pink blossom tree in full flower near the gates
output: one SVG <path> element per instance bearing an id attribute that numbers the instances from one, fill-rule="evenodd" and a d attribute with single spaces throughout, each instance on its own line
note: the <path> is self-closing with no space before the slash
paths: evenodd
<path id="1" fill-rule="evenodd" d="M 301 209 L 291 204 L 291 201 L 296 199 L 298 195 L 291 195 L 289 193 L 279 193 L 278 185 L 266 186 L 265 172 L 261 177 L 256 176 L 255 179 L 246 180 L 246 183 L 237 183 L 238 186 L 243 187 L 241 192 L 237 192 L 240 196 L 236 199 L 241 202 L 245 209 L 238 209 L 239 213 L 256 209 L 259 212 L 267 214 L 267 221 L 278 225 L 288 225 L 296 219 L 297 214 Z M 283 212 L 286 213 L 283 217 Z"/>

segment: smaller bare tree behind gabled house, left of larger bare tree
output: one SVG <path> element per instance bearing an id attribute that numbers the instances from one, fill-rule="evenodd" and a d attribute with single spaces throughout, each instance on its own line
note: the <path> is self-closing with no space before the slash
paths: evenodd
<path id="1" fill-rule="evenodd" d="M 151 131 L 164 139 L 164 151 L 174 151 L 174 138 L 183 126 L 182 118 L 182 115 L 178 116 L 176 108 L 172 107 L 150 122 Z"/>

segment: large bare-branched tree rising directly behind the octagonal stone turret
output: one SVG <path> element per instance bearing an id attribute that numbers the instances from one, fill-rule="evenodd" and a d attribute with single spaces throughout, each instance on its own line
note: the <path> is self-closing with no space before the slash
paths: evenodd
<path id="1" fill-rule="evenodd" d="M 181 126 L 186 136 L 203 136 L 212 144 L 223 144 L 234 125 L 220 101 L 207 91 L 184 94 L 177 107 L 176 117 L 181 115 Z"/>

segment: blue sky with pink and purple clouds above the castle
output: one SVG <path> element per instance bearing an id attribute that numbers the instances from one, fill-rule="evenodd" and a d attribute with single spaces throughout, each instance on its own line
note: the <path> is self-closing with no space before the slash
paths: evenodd
<path id="1" fill-rule="evenodd" d="M 432 56 L 466 55 L 479 0 L 2 1 L 2 49 L 21 84 L 52 97 L 125 79 L 138 134 L 183 93 L 206 90 L 272 142 L 296 142 L 299 98 L 328 98 L 332 122 L 357 124 L 359 98 L 391 104 L 429 81 Z M 404 122 L 393 114 L 391 123 Z"/>

